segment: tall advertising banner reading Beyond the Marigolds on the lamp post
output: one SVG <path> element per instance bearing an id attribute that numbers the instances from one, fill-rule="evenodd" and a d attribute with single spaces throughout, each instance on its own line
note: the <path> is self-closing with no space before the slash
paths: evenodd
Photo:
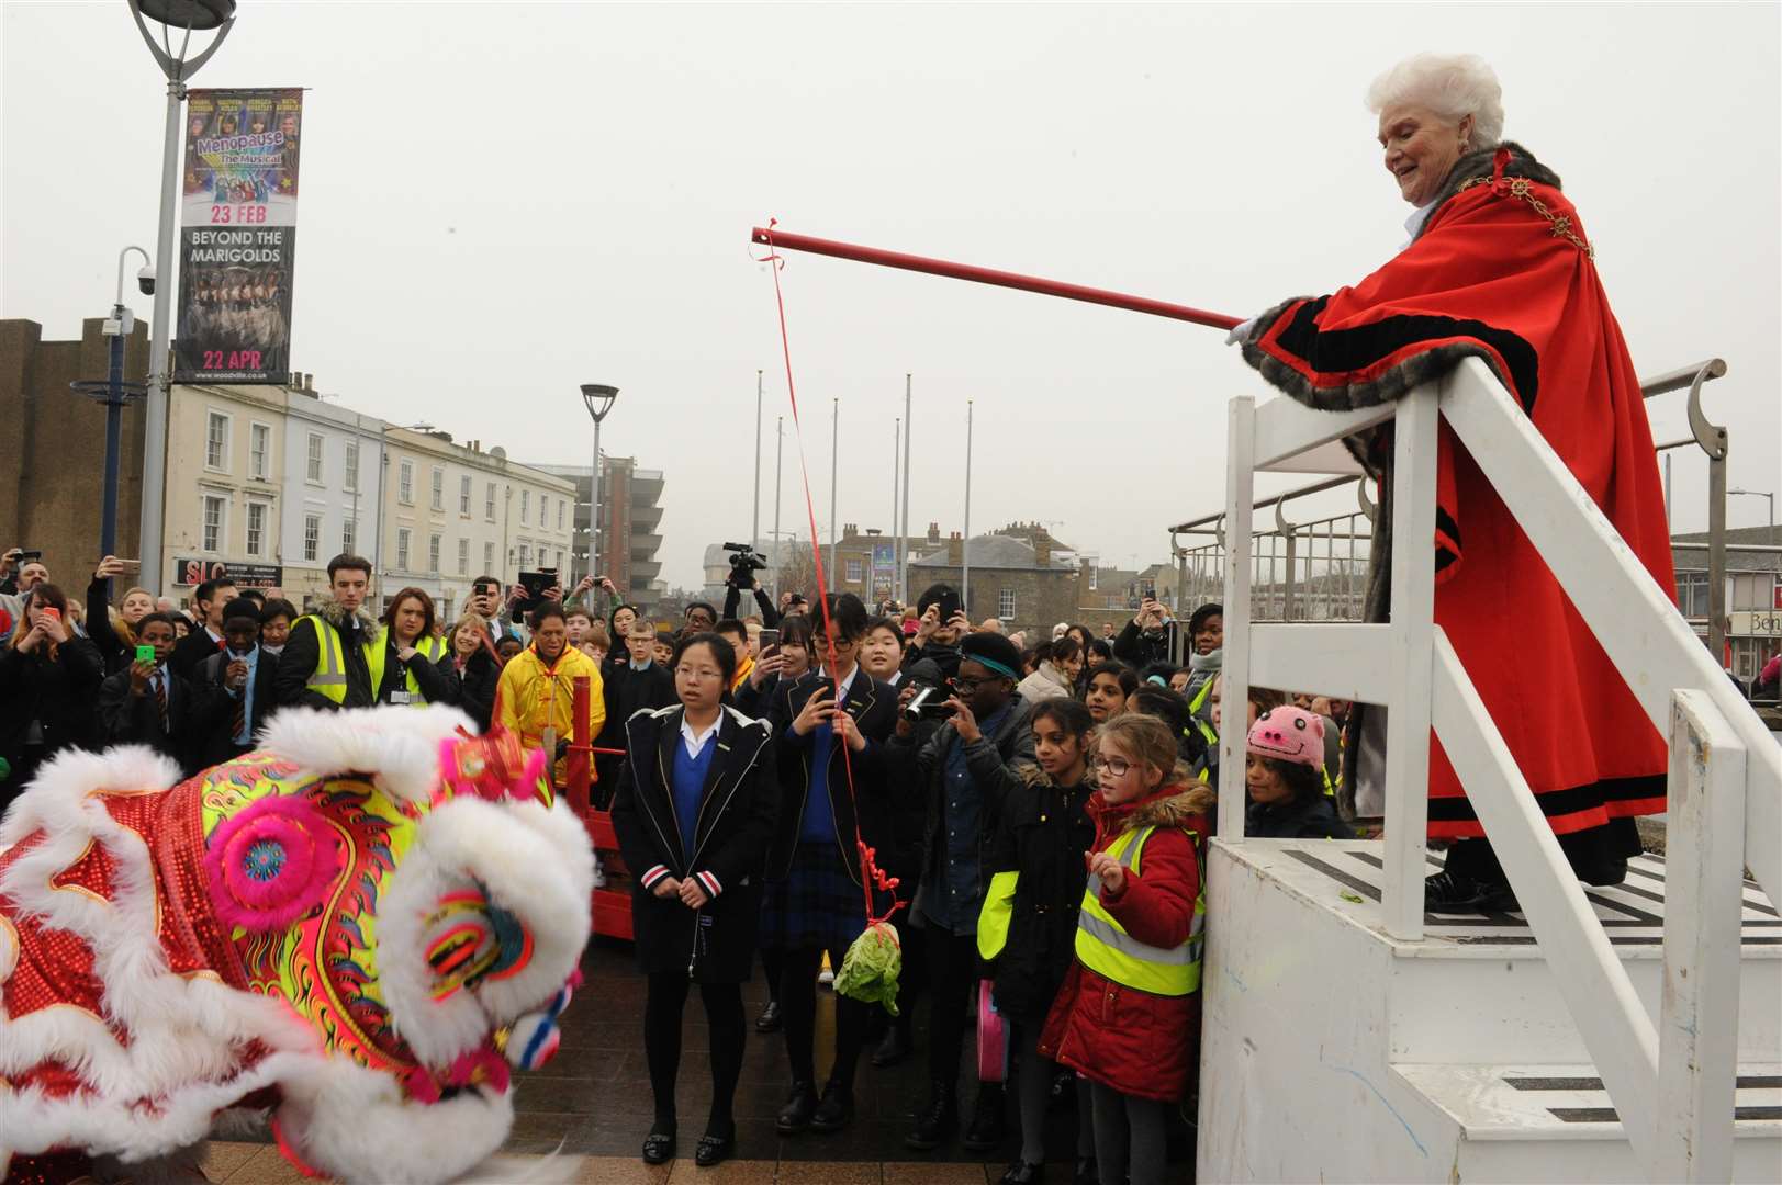
<path id="1" fill-rule="evenodd" d="M 191 91 L 178 383 L 285 383 L 303 91 Z"/>

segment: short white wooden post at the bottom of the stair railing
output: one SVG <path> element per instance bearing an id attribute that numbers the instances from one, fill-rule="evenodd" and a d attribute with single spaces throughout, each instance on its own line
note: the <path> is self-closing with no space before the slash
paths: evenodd
<path id="1" fill-rule="evenodd" d="M 1745 743 L 1713 699 L 1675 691 L 1654 1181 L 1732 1180 L 1745 773 Z"/>

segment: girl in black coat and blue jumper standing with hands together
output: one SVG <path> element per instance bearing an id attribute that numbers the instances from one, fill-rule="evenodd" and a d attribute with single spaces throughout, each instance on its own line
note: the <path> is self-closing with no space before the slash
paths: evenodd
<path id="1" fill-rule="evenodd" d="M 691 984 L 711 1034 L 711 1114 L 693 1162 L 715 1165 L 736 1144 L 731 1103 L 747 1037 L 741 985 L 754 964 L 779 786 L 770 725 L 722 704 L 734 668 L 727 642 L 690 634 L 674 658 L 679 702 L 642 707 L 624 725 L 625 748 L 640 759 L 618 779 L 613 830 L 638 873 L 631 918 L 638 966 L 649 977 L 643 1051 L 656 1117 L 643 1139 L 645 1164 L 675 1155 L 681 1014 Z"/>

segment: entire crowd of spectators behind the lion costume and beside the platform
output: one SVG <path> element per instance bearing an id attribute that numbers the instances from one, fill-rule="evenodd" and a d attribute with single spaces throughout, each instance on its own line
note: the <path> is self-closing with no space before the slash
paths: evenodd
<path id="1" fill-rule="evenodd" d="M 192 773 L 251 752 L 294 706 L 449 704 L 527 748 L 554 743 L 563 761 L 586 679 L 593 805 L 611 809 L 649 977 L 645 1160 L 675 1155 L 693 984 L 713 1075 L 695 1160 L 734 1151 L 741 987 L 759 962 L 768 1003 L 754 1028 L 782 1035 L 791 1069 L 781 1133 L 848 1126 L 861 1058 L 916 1055 L 927 998 L 930 1092 L 911 1148 L 991 1151 L 1012 1112 L 1021 1151 L 1005 1180 L 1035 1181 L 1048 1110 L 1075 1105 L 1076 1180 L 1158 1180 L 1171 1116 L 1194 1089 L 1219 606 L 1190 617 L 1189 661 L 1174 666 L 1149 601 L 1117 634 L 1060 622 L 1030 643 L 996 620 L 973 625 L 944 584 L 884 613 L 854 595 L 813 606 L 732 588 L 722 613 L 693 602 L 668 627 L 592 579 L 535 595 L 481 577 L 444 622 L 419 588 L 374 615 L 371 565 L 351 554 L 330 561 L 330 590 L 307 609 L 226 577 L 184 609 L 137 586 L 114 601 L 132 567 L 103 558 L 69 601 L 41 560 L 4 558 L 5 800 L 77 747 L 148 745 Z M 1251 834 L 1347 834 L 1329 798 L 1345 706 L 1299 704 L 1251 690 Z M 896 1014 L 836 994 L 820 1073 L 820 984 L 868 909 L 895 903 Z M 1007 1025 L 1010 1066 L 964 1107 L 980 994 Z"/>

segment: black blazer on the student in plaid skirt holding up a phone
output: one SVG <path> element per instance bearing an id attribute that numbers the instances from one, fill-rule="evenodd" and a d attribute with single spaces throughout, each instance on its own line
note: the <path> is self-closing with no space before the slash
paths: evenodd
<path id="1" fill-rule="evenodd" d="M 791 722 L 825 681 L 822 668 L 807 670 L 798 679 L 782 681 L 768 704 L 768 722 L 773 727 L 773 745 L 779 748 L 781 813 L 773 829 L 773 846 L 768 854 L 768 877 L 782 880 L 791 871 L 791 857 L 804 827 L 804 805 L 811 791 L 811 736 L 793 736 Z M 829 805 L 836 820 L 836 848 L 841 866 L 854 884 L 861 882 L 861 855 L 854 846 L 855 813 L 859 804 L 859 834 L 875 848 L 889 848 L 895 839 L 891 788 L 886 782 L 886 740 L 896 727 L 896 693 L 889 684 L 857 670 L 848 686 L 843 711 L 854 716 L 866 748 L 841 756 L 841 745 L 829 747 Z M 848 770 L 854 770 L 854 793 L 848 793 Z"/>

